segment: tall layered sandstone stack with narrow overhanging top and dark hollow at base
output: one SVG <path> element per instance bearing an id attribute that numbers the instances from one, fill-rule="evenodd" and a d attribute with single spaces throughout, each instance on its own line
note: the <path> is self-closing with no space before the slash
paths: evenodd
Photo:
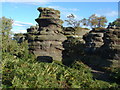
<path id="1" fill-rule="evenodd" d="M 39 26 L 27 30 L 29 49 L 41 60 L 62 60 L 62 42 L 66 37 L 62 32 L 60 12 L 52 8 L 38 8 L 40 15 L 36 20 Z"/>

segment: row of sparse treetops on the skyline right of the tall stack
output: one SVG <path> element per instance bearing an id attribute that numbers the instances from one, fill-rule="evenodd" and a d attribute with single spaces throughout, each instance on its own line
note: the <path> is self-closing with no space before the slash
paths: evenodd
<path id="1" fill-rule="evenodd" d="M 105 16 L 97 16 L 96 14 L 92 14 L 88 19 L 83 18 L 81 20 L 76 20 L 75 15 L 70 14 L 67 16 L 68 20 L 65 20 L 68 25 L 72 27 L 79 26 L 90 26 L 91 28 L 96 27 L 105 27 L 107 23 L 107 19 Z"/>

